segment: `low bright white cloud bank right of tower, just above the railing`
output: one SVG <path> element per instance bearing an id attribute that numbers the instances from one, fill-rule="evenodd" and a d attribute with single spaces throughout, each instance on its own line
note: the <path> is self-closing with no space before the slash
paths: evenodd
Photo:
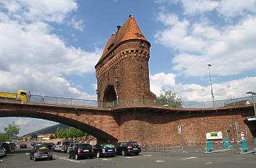
<path id="1" fill-rule="evenodd" d="M 161 89 L 171 89 L 177 97 L 183 101 L 210 101 L 210 86 L 203 87 L 200 84 L 176 83 L 175 74 L 150 75 L 150 89 L 153 93 L 160 95 Z M 213 84 L 213 92 L 216 100 L 226 100 L 236 97 L 248 96 L 249 90 L 256 90 L 256 77 L 246 77 L 232 81 Z"/>

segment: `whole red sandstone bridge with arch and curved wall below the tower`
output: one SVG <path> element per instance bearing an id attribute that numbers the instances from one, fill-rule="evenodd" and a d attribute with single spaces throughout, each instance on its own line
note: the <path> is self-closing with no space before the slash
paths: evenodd
<path id="1" fill-rule="evenodd" d="M 171 108 L 155 105 L 83 107 L 39 102 L 0 100 L 0 117 L 51 120 L 86 131 L 100 142 L 139 141 L 152 146 L 205 143 L 205 133 L 222 131 L 223 137 L 239 139 L 244 131 L 253 141 L 256 122 L 252 105 L 216 108 Z M 182 125 L 182 134 L 177 126 Z M 229 130 L 229 131 L 228 131 Z M 229 132 L 229 133 L 228 133 Z"/>

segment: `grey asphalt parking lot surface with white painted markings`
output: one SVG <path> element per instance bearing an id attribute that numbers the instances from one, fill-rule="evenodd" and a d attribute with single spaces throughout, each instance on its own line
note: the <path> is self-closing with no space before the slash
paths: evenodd
<path id="1" fill-rule="evenodd" d="M 140 156 L 116 156 L 100 159 L 68 159 L 67 154 L 54 152 L 54 159 L 34 162 L 29 159 L 29 149 L 17 149 L 0 159 L 3 168 L 220 168 L 256 167 L 255 154 L 238 154 L 238 149 L 204 154 L 203 148 L 174 149 L 166 153 L 143 152 Z"/>

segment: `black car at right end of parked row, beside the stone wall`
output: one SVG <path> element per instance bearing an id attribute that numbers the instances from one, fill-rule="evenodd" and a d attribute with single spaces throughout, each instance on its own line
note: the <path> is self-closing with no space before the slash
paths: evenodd
<path id="1" fill-rule="evenodd" d="M 120 154 L 121 156 L 127 154 L 139 155 L 140 152 L 140 144 L 137 142 L 119 142 L 116 145 L 116 154 Z"/>

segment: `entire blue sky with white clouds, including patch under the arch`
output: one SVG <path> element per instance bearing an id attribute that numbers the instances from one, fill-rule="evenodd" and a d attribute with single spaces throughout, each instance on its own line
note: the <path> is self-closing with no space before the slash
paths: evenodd
<path id="1" fill-rule="evenodd" d="M 151 43 L 150 89 L 183 101 L 256 91 L 256 0 L 1 0 L 0 91 L 96 100 L 95 64 L 133 14 Z M 55 124 L 16 121 L 29 133 Z"/>

